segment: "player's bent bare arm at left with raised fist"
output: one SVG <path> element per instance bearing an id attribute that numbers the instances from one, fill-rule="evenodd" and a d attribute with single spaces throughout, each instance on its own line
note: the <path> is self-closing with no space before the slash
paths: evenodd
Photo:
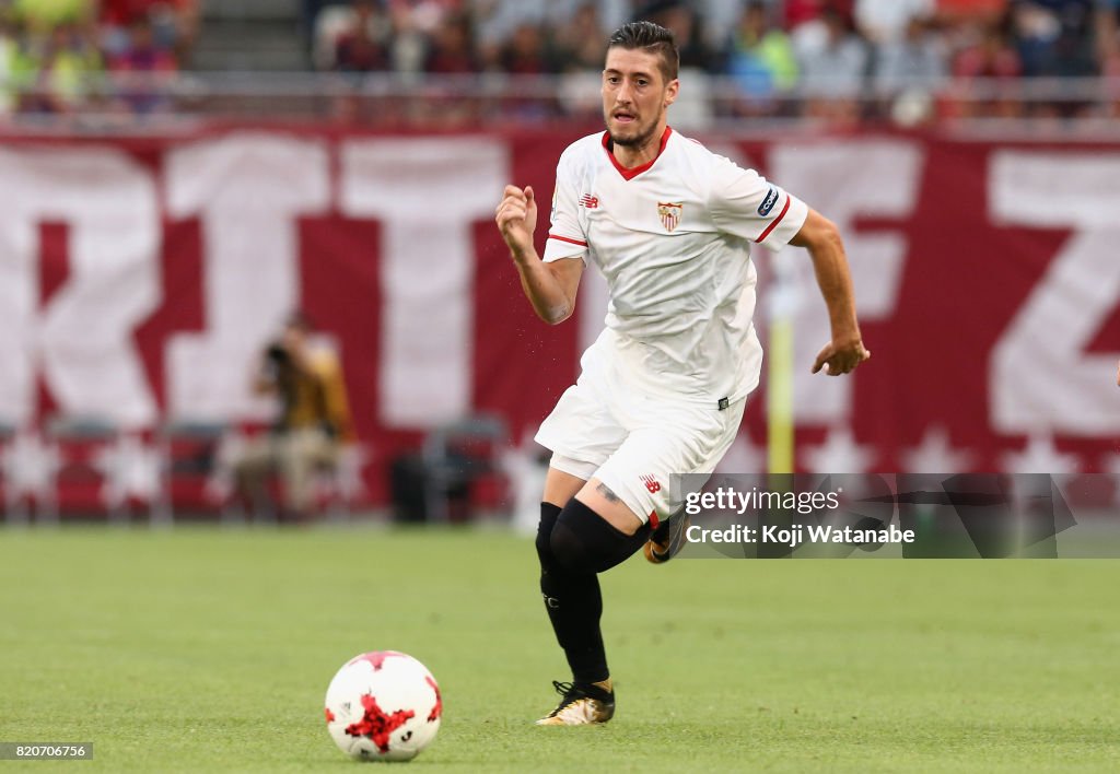
<path id="1" fill-rule="evenodd" d="M 496 216 L 502 239 L 510 248 L 521 288 L 536 316 L 549 325 L 562 323 L 576 310 L 576 293 L 584 274 L 584 261 L 576 257 L 545 263 L 533 248 L 536 230 L 536 198 L 532 187 L 506 186 Z"/>

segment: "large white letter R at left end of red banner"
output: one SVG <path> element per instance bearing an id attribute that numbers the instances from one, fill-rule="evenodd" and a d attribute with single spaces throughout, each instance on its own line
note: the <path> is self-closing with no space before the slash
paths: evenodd
<path id="1" fill-rule="evenodd" d="M 156 402 L 132 333 L 159 302 L 159 214 L 151 175 L 109 149 L 0 151 L 0 412 L 35 412 L 41 367 L 60 410 L 125 428 Z M 69 226 L 69 274 L 41 310 L 38 226 Z"/>

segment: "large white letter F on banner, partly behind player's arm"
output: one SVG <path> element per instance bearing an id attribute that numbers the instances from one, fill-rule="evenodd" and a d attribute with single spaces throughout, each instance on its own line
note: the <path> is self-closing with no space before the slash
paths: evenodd
<path id="1" fill-rule="evenodd" d="M 894 313 L 906 260 L 906 236 L 902 232 L 858 233 L 852 221 L 858 216 L 905 218 L 914 212 L 924 160 L 920 146 L 885 139 L 819 147 L 797 143 L 771 151 L 774 181 L 806 199 L 840 227 L 860 320 L 884 319 Z M 851 390 L 858 374 L 849 379 L 809 377 L 816 353 L 832 338 L 812 261 L 791 249 L 774 260 L 797 261 L 804 299 L 797 313 L 794 345 L 797 422 L 842 421 L 851 413 Z M 870 348 L 875 351 L 874 343 Z"/>

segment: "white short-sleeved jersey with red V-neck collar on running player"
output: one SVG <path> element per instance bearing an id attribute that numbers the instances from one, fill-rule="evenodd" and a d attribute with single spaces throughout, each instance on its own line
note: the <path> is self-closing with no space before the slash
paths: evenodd
<path id="1" fill-rule="evenodd" d="M 750 244 L 780 250 L 808 214 L 756 171 L 669 128 L 657 157 L 633 169 L 603 132 L 560 157 L 543 260 L 590 257 L 603 271 L 608 338 L 635 389 L 725 405 L 762 371 Z"/>

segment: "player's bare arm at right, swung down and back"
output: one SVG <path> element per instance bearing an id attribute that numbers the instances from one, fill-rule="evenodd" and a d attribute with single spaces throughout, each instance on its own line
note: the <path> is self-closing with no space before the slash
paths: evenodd
<path id="1" fill-rule="evenodd" d="M 790 240 L 790 244 L 809 251 L 816 285 L 829 308 L 832 341 L 816 355 L 813 373 L 825 365 L 830 376 L 851 373 L 871 353 L 864 347 L 864 337 L 859 333 L 856 293 L 840 231 L 834 223 L 810 207 L 804 225 Z"/>

